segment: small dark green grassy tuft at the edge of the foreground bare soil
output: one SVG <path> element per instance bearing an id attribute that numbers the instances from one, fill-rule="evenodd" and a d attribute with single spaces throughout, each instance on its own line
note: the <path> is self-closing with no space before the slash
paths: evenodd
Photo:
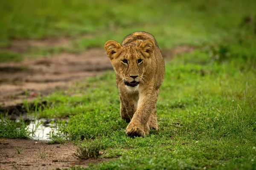
<path id="1" fill-rule="evenodd" d="M 96 159 L 100 156 L 99 150 L 101 150 L 101 148 L 102 145 L 100 142 L 95 140 L 86 145 L 81 144 L 77 149 L 77 153 L 73 153 L 73 156 L 79 159 Z"/>

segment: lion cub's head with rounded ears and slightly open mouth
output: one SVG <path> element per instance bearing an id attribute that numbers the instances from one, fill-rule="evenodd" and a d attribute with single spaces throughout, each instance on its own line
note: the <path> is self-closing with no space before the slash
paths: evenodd
<path id="1" fill-rule="evenodd" d="M 151 65 L 155 44 L 152 40 L 137 40 L 134 43 L 120 45 L 114 40 L 105 43 L 105 51 L 113 68 L 125 85 L 135 87 L 143 82 L 147 65 Z"/>

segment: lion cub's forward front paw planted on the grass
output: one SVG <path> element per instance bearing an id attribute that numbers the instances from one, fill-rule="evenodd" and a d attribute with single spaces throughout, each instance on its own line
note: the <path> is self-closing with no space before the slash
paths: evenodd
<path id="1" fill-rule="evenodd" d="M 144 128 L 141 126 L 134 125 L 133 122 L 130 122 L 129 125 L 126 127 L 125 132 L 127 133 L 128 136 L 142 136 L 145 137 L 145 133 L 149 133 L 148 128 Z"/>

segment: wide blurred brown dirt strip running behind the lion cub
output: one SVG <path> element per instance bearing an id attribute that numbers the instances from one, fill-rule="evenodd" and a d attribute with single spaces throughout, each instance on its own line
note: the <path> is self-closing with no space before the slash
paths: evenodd
<path id="1" fill-rule="evenodd" d="M 192 47 L 183 45 L 162 52 L 165 59 L 170 59 L 192 50 Z M 16 105 L 24 99 L 32 101 L 37 96 L 68 88 L 85 77 L 112 69 L 102 49 L 89 49 L 81 54 L 62 53 L 35 60 L 24 59 L 19 63 L 0 63 L 0 106 Z"/>

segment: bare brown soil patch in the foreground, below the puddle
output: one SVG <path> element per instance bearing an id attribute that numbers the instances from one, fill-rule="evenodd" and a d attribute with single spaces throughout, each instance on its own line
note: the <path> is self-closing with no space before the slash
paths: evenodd
<path id="1" fill-rule="evenodd" d="M 20 154 L 15 147 L 21 148 Z M 43 141 L 25 139 L 0 139 L 1 170 L 60 170 L 72 166 L 87 167 L 90 163 L 108 161 L 110 159 L 76 159 L 77 146 L 47 144 Z"/>

